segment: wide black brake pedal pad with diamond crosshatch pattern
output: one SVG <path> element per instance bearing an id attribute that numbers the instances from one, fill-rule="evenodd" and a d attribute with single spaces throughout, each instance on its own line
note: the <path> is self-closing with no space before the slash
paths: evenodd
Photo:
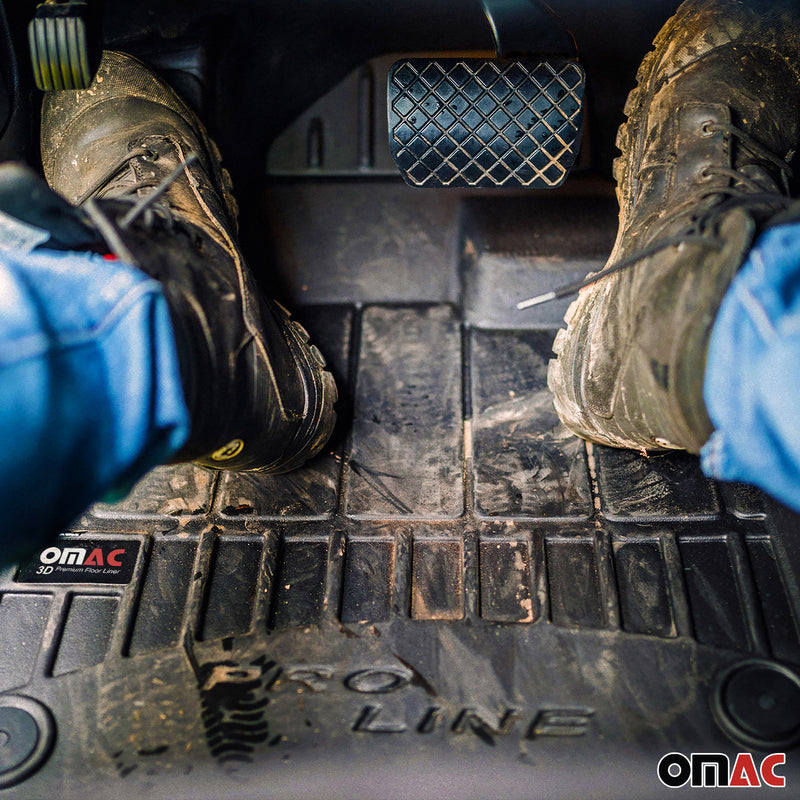
<path id="1" fill-rule="evenodd" d="M 580 147 L 585 85 L 563 58 L 403 59 L 388 79 L 392 156 L 411 186 L 559 186 Z"/>

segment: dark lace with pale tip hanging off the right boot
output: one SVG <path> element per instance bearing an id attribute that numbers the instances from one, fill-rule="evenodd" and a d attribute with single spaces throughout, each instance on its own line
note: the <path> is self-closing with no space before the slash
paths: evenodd
<path id="1" fill-rule="evenodd" d="M 763 213 L 764 209 L 768 208 L 772 213 L 777 214 L 792 204 L 791 198 L 788 196 L 792 170 L 787 163 L 787 160 L 791 158 L 791 154 L 787 160 L 784 160 L 735 125 L 704 122 L 701 126 L 701 135 L 711 136 L 714 133 L 723 133 L 726 136 L 738 139 L 741 145 L 755 156 L 755 161 L 743 164 L 739 169 L 723 166 L 705 167 L 700 172 L 701 178 L 707 179 L 714 175 L 721 175 L 729 178 L 731 183 L 728 186 L 708 188 L 703 187 L 702 184 L 699 185 L 699 191 L 691 201 L 691 206 L 696 210 L 689 212 L 688 225 L 684 231 L 674 236 L 659 239 L 634 255 L 623 258 L 579 281 L 565 284 L 552 291 L 523 300 L 517 303 L 517 309 L 531 308 L 542 303 L 548 303 L 551 300 L 568 297 L 587 286 L 591 286 L 607 275 L 635 266 L 639 262 L 671 247 L 680 247 L 683 244 L 699 244 L 714 250 L 722 250 L 725 243 L 718 236 L 718 223 L 732 209 L 752 209 Z M 781 185 L 774 184 L 778 191 L 765 188 L 762 183 L 742 171 L 747 166 L 763 166 L 765 163 L 778 170 L 778 174 L 781 177 Z M 687 208 L 684 205 L 665 217 L 659 224 L 668 228 L 682 217 L 686 217 L 686 215 Z"/>

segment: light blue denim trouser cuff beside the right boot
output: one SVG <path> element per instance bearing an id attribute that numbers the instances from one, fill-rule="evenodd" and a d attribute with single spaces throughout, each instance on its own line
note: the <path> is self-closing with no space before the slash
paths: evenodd
<path id="1" fill-rule="evenodd" d="M 706 474 L 800 510 L 800 223 L 763 233 L 728 289 L 703 393 Z"/>

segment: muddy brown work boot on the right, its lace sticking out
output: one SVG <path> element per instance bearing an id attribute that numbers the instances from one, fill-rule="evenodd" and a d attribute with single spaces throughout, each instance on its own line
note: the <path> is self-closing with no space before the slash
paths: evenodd
<path id="1" fill-rule="evenodd" d="M 614 165 L 620 224 L 606 269 L 620 269 L 572 303 L 548 374 L 579 436 L 694 453 L 710 436 L 714 318 L 755 235 L 788 202 L 797 5 L 688 0 L 641 65 Z"/>

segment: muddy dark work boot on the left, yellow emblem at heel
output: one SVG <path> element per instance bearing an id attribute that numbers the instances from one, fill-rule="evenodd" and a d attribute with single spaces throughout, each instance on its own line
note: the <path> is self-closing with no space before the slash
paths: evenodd
<path id="1" fill-rule="evenodd" d="M 305 330 L 260 296 L 219 153 L 172 89 L 105 53 L 89 89 L 47 95 L 42 160 L 111 253 L 163 285 L 192 423 L 174 460 L 286 472 L 318 452 L 333 378 Z"/>

